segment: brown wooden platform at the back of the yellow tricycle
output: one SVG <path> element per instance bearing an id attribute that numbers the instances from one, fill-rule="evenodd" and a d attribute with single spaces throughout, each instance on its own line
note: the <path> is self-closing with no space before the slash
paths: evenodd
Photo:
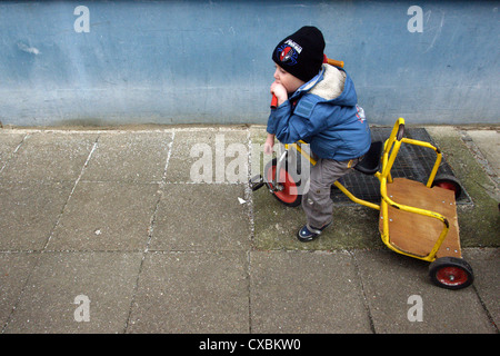
<path id="1" fill-rule="evenodd" d="M 459 226 L 454 194 L 439 187 L 427 188 L 423 184 L 406 178 L 394 178 L 387 185 L 389 198 L 414 208 L 441 214 L 450 222 L 448 235 L 437 257 L 461 257 Z M 431 217 L 402 211 L 389 206 L 389 240 L 400 250 L 420 257 L 427 256 L 436 245 L 443 224 Z M 379 228 L 382 230 L 382 219 Z"/>

